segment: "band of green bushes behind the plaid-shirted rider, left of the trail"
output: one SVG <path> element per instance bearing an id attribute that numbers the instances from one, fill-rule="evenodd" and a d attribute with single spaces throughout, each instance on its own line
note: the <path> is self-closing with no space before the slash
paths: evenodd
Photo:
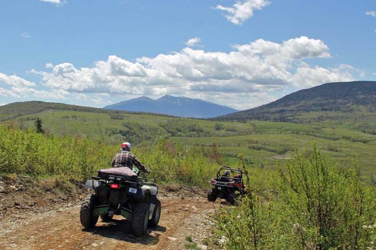
<path id="1" fill-rule="evenodd" d="M 0 173 L 85 180 L 98 169 L 109 168 L 118 149 L 118 145 L 89 138 L 45 136 L 0 126 Z M 213 159 L 218 157 L 216 148 L 211 150 Z M 200 149 L 176 149 L 164 140 L 156 146 L 134 148 L 133 152 L 151 170 L 150 177 L 158 181 L 204 186 L 218 169 Z"/>

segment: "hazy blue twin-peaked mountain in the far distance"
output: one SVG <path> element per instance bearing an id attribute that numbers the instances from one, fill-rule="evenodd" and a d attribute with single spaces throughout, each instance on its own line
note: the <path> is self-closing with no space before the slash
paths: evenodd
<path id="1" fill-rule="evenodd" d="M 164 95 L 156 100 L 146 96 L 141 96 L 139 98 L 106 106 L 104 109 L 151 112 L 193 118 L 210 118 L 237 112 L 237 110 L 233 108 L 201 99 L 191 99 L 184 96 L 175 97 L 171 95 Z"/>

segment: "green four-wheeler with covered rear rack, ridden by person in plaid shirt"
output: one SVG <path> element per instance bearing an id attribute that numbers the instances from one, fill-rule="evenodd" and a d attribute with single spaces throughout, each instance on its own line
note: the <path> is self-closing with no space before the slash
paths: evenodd
<path id="1" fill-rule="evenodd" d="M 136 173 L 135 173 L 136 172 Z M 130 220 L 132 232 L 140 237 L 147 227 L 157 227 L 161 202 L 155 180 L 141 178 L 128 167 L 102 169 L 85 187 L 94 190 L 81 204 L 80 220 L 85 228 L 95 227 L 98 218 L 107 222 L 114 215 Z"/>

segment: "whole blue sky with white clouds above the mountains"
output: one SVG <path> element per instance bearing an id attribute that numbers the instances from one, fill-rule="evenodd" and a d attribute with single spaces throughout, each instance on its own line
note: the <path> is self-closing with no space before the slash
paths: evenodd
<path id="1" fill-rule="evenodd" d="M 3 0 L 0 104 L 164 94 L 252 108 L 376 80 L 375 0 Z"/>

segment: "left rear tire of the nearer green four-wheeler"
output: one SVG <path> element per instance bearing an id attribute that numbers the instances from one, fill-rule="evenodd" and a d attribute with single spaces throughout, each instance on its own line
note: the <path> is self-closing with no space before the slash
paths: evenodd
<path id="1" fill-rule="evenodd" d="M 81 225 L 85 228 L 95 227 L 95 224 L 98 221 L 99 215 L 93 215 L 96 203 L 96 196 L 94 194 L 90 194 L 85 197 L 81 204 L 80 221 Z"/>

